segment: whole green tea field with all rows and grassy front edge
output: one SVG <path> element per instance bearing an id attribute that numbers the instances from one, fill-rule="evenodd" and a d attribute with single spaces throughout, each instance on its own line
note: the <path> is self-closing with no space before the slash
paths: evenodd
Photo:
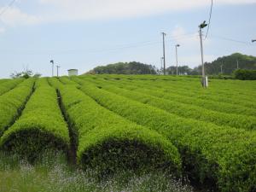
<path id="1" fill-rule="evenodd" d="M 0 177 L 0 191 L 255 192 L 256 81 L 0 79 Z"/>

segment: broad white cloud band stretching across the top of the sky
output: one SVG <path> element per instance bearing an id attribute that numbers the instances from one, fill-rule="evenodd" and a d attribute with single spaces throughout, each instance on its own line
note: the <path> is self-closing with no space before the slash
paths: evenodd
<path id="1" fill-rule="evenodd" d="M 2 16 L 8 25 L 31 25 L 66 20 L 122 19 L 157 15 L 168 11 L 185 11 L 210 5 L 206 0 L 37 0 L 18 1 L 25 8 L 34 7 L 33 14 L 10 8 Z M 214 5 L 256 3 L 256 0 L 215 0 Z"/>

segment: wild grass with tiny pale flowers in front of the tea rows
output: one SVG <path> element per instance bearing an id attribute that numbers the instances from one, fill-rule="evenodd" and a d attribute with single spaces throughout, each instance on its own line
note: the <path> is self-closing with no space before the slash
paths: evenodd
<path id="1" fill-rule="evenodd" d="M 94 170 L 84 172 L 70 166 L 65 154 L 44 153 L 34 165 L 12 154 L 0 154 L 1 192 L 194 191 L 186 182 L 161 172 L 119 172 L 103 180 L 96 175 Z"/>

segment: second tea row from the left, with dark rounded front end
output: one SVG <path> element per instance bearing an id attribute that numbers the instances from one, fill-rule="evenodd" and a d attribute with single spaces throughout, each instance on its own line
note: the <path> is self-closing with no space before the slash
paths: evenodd
<path id="1" fill-rule="evenodd" d="M 26 103 L 20 119 L 4 132 L 3 150 L 35 160 L 45 149 L 69 148 L 69 134 L 57 101 L 55 89 L 47 79 L 38 79 L 36 90 Z"/>

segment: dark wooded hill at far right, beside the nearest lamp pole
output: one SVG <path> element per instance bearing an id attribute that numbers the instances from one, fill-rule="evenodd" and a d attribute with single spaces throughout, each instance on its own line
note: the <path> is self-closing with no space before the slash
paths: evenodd
<path id="1" fill-rule="evenodd" d="M 206 73 L 207 74 L 219 74 L 221 73 L 221 66 L 223 66 L 224 74 L 232 74 L 238 68 L 256 70 L 256 57 L 252 55 L 242 55 L 240 53 L 235 53 L 228 56 L 219 57 L 217 60 L 212 62 L 206 62 Z M 197 69 L 200 69 L 198 67 Z"/>

